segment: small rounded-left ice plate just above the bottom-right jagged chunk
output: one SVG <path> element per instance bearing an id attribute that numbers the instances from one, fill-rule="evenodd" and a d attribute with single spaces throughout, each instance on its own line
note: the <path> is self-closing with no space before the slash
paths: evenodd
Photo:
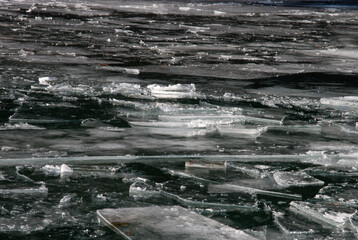
<path id="1" fill-rule="evenodd" d="M 323 186 L 324 182 L 311 177 L 303 171 L 299 172 L 275 172 L 273 178 L 279 186 L 290 187 L 314 187 Z"/>

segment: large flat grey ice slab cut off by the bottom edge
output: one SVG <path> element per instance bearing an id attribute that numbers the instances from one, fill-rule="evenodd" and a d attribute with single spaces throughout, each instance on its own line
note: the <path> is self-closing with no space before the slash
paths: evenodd
<path id="1" fill-rule="evenodd" d="M 101 223 L 126 239 L 256 239 L 179 206 L 102 209 Z"/>

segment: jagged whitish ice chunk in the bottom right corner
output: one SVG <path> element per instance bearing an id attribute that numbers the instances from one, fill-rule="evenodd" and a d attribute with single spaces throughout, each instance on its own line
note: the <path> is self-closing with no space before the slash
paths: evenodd
<path id="1" fill-rule="evenodd" d="M 332 202 L 291 202 L 290 211 L 321 224 L 324 228 L 345 228 L 355 208 Z"/>

